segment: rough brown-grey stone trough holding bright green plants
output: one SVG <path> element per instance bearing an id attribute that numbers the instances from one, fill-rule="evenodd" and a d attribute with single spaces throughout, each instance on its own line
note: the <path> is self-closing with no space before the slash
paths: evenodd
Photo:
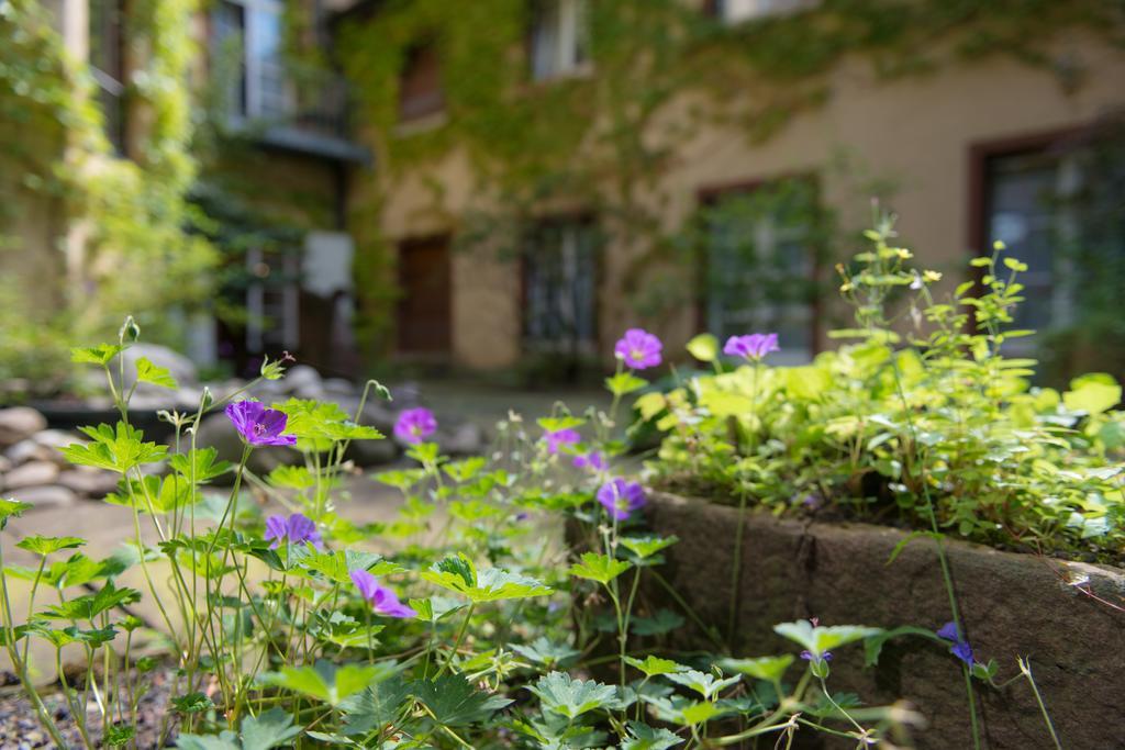
<path id="1" fill-rule="evenodd" d="M 662 576 L 702 622 L 728 635 L 738 509 L 663 494 L 649 499 L 648 525 L 680 537 L 664 552 Z M 883 526 L 778 519 L 748 510 L 730 639 L 734 654 L 793 653 L 794 644 L 773 626 L 812 616 L 826 625 L 940 627 L 951 614 L 933 542 L 916 540 L 888 564 L 906 539 Z M 1120 602 L 1125 571 L 958 541 L 947 541 L 946 551 L 965 634 L 979 659 L 997 659 L 998 681 L 1016 672 L 1017 656 L 1029 654 L 1062 746 L 1119 747 L 1119 722 L 1106 717 L 1120 715 L 1119 696 L 1125 694 L 1120 613 L 1086 596 L 1073 581 L 1086 581 L 1107 602 Z M 642 589 L 640 602 L 646 596 L 668 602 L 651 584 Z M 664 645 L 716 648 L 691 624 Z M 845 647 L 835 657 L 834 690 L 857 693 L 871 705 L 906 698 L 926 717 L 927 728 L 914 737 L 917 748 L 972 747 L 961 665 L 947 648 L 925 639 L 894 639 L 875 669 L 862 668 L 862 647 Z M 1025 681 L 1004 689 L 976 685 L 986 747 L 1050 747 Z"/>

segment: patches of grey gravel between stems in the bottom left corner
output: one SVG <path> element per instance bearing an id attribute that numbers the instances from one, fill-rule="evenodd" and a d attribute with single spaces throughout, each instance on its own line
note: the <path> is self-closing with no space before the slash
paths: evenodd
<path id="1" fill-rule="evenodd" d="M 32 750 L 32 748 L 57 748 L 51 735 L 39 724 L 35 708 L 24 695 L 22 688 L 10 672 L 2 676 L 4 686 L 0 687 L 0 749 Z M 138 748 L 158 748 L 156 735 L 164 717 L 171 672 L 156 671 L 150 676 L 150 687 L 144 692 L 137 706 L 137 743 Z M 66 739 L 69 747 L 82 748 L 82 737 L 74 723 L 74 717 L 66 705 L 62 689 L 55 685 L 42 688 L 43 703 L 51 711 L 55 723 Z M 101 716 L 97 706 L 89 707 L 87 726 L 91 740 L 97 747 L 102 747 Z M 165 747 L 168 743 L 165 742 Z"/>

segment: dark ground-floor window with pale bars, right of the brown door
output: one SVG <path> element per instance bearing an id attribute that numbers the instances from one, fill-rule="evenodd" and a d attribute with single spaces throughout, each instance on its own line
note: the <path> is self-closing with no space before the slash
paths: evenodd
<path id="1" fill-rule="evenodd" d="M 593 224 L 546 222 L 523 254 L 523 335 L 531 351 L 594 354 L 597 344 L 597 237 Z"/>

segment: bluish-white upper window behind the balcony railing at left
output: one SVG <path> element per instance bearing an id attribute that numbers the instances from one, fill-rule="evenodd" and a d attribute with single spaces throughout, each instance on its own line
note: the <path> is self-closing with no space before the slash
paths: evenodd
<path id="1" fill-rule="evenodd" d="M 226 87 L 233 117 L 277 119 L 292 109 L 281 57 L 280 0 L 219 0 L 215 3 L 212 45 L 215 67 Z"/>

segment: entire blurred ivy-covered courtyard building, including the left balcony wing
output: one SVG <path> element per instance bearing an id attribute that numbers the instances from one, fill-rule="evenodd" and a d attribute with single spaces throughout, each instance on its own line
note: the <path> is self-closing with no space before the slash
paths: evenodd
<path id="1" fill-rule="evenodd" d="M 1029 264 L 1050 377 L 1125 374 L 1119 3 L 38 6 L 0 3 L 0 270 L 64 337 L 538 379 L 644 325 L 799 362 L 876 197 L 951 289 L 994 240 Z"/>

